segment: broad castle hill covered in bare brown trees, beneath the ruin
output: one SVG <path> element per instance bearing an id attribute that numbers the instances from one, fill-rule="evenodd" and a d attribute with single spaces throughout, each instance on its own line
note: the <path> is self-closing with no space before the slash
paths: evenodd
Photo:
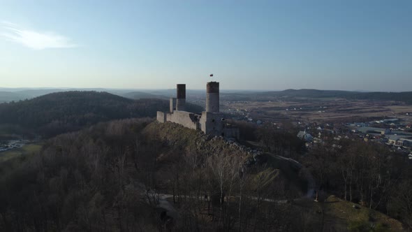
<path id="1" fill-rule="evenodd" d="M 0 230 L 156 231 L 170 220 L 177 231 L 240 226 L 245 231 L 346 231 L 365 228 L 369 220 L 376 228 L 402 229 L 395 219 L 352 208 L 334 196 L 314 203 L 299 181 L 290 180 L 305 178 L 295 161 L 282 159 L 277 167 L 275 156 L 266 154 L 269 159 L 251 162 L 261 155 L 170 122 L 96 124 L 51 138 L 30 157 L 0 164 L 0 214 L 6 215 Z M 282 170 L 287 168 L 289 173 Z"/>

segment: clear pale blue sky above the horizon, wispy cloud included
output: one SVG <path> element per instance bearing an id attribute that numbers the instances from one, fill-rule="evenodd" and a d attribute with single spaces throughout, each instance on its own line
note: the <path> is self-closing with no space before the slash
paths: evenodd
<path id="1" fill-rule="evenodd" d="M 412 1 L 0 1 L 0 87 L 412 91 Z"/>

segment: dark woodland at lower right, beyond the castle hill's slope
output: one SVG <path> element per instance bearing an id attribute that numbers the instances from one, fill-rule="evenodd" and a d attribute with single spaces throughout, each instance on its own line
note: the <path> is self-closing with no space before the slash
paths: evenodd
<path id="1" fill-rule="evenodd" d="M 350 138 L 337 141 L 333 136 L 300 152 L 299 141 L 288 138 L 284 130 L 257 129 L 256 133 L 267 151 L 308 168 L 321 198 L 335 194 L 399 219 L 412 229 L 412 162 L 407 156 L 385 145 Z"/>

